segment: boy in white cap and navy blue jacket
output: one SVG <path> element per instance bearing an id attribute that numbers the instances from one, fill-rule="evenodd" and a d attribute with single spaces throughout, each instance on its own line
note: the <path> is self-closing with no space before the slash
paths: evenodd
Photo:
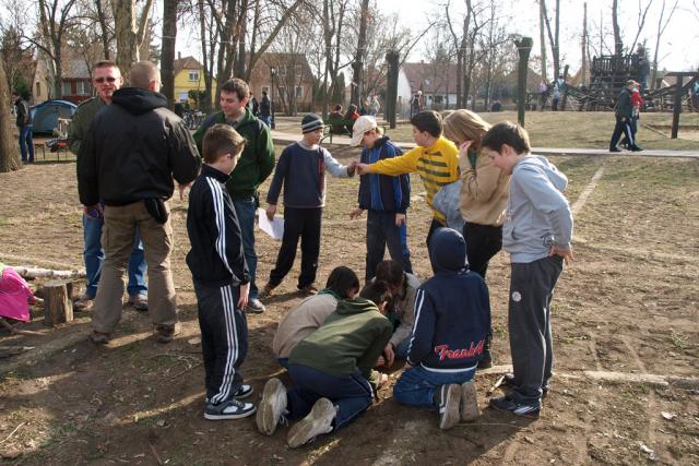
<path id="1" fill-rule="evenodd" d="M 376 118 L 364 116 L 354 122 L 351 145 L 363 145 L 362 163 L 374 164 L 383 158 L 402 155 L 388 136 L 382 136 Z M 407 249 L 405 211 L 411 202 L 411 179 L 407 174 L 396 177 L 369 174 L 359 178 L 359 208 L 351 218 L 364 211 L 367 214 L 367 283 L 376 276 L 376 267 L 383 261 L 386 247 L 391 259 L 401 264 L 403 272 L 412 274 L 411 252 Z"/>

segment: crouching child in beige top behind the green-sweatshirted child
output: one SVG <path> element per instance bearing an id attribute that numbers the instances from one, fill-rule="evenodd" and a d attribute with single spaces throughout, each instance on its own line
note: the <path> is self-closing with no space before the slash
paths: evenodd
<path id="1" fill-rule="evenodd" d="M 280 366 L 288 367 L 288 357 L 298 342 L 306 338 L 328 319 L 337 302 L 353 299 L 359 292 L 359 278 L 350 267 L 335 267 L 328 277 L 325 289 L 318 295 L 304 299 L 280 322 L 272 350 L 276 355 Z"/>

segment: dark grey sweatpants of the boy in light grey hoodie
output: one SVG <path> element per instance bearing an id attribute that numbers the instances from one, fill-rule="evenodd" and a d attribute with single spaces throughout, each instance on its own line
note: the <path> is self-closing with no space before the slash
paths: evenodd
<path id="1" fill-rule="evenodd" d="M 508 330 L 517 403 L 541 403 L 542 387 L 548 385 L 554 361 L 550 301 L 562 268 L 559 256 L 512 263 Z"/>

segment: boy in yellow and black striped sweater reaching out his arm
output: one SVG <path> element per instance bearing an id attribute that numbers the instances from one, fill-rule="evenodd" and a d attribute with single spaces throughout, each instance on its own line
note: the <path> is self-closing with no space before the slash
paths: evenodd
<path id="1" fill-rule="evenodd" d="M 441 187 L 459 179 L 459 150 L 441 135 L 441 117 L 436 111 L 420 111 L 411 118 L 411 124 L 417 147 L 400 157 L 384 158 L 370 165 L 357 164 L 356 169 L 359 175 L 419 174 L 427 191 L 427 205 L 433 211 L 433 222 L 427 234 L 427 246 L 429 246 L 433 232 L 439 227 L 447 226 L 445 214 L 433 206 L 433 200 Z"/>

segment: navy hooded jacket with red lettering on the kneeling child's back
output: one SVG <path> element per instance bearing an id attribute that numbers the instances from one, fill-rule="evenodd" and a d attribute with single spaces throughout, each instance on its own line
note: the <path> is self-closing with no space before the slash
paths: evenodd
<path id="1" fill-rule="evenodd" d="M 435 276 L 417 288 L 407 361 L 442 372 L 475 368 L 490 327 L 488 288 L 469 272 L 466 243 L 450 228 L 433 235 L 429 260 Z"/>

